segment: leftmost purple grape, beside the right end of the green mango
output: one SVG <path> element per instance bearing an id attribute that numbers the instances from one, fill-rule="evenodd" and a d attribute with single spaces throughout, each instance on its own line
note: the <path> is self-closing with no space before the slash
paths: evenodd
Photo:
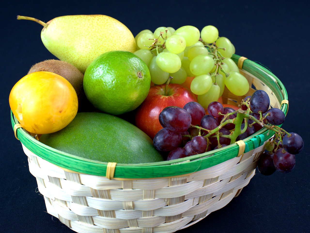
<path id="1" fill-rule="evenodd" d="M 162 128 L 157 132 L 153 139 L 154 147 L 159 151 L 171 151 L 182 142 L 182 135 L 180 133 Z"/>

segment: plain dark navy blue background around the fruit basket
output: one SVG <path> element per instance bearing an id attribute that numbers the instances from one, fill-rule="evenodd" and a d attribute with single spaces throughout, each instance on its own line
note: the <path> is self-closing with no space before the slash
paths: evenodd
<path id="1" fill-rule="evenodd" d="M 285 85 L 289 112 L 283 124 L 303 137 L 305 147 L 286 175 L 257 174 L 224 208 L 179 231 L 310 232 L 309 156 L 309 8 L 305 1 L 6 1 L 1 4 L 1 221 L 0 232 L 70 233 L 46 213 L 27 157 L 15 139 L 8 96 L 30 66 L 55 58 L 40 39 L 41 25 L 18 21 L 17 15 L 49 21 L 71 14 L 104 14 L 136 35 L 159 26 L 214 25 L 232 41 L 236 54 L 267 66 Z M 87 30 L 85 31 L 87 33 Z"/>

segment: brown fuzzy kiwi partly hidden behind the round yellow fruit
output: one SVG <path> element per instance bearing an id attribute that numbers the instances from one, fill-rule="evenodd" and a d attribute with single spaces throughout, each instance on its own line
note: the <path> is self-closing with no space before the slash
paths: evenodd
<path id="1" fill-rule="evenodd" d="M 49 71 L 58 74 L 68 80 L 78 95 L 79 112 L 88 112 L 91 104 L 86 99 L 83 89 L 84 74 L 78 70 L 75 66 L 65 61 L 48 59 L 42 62 L 38 62 L 31 66 L 28 74 L 36 71 Z"/>

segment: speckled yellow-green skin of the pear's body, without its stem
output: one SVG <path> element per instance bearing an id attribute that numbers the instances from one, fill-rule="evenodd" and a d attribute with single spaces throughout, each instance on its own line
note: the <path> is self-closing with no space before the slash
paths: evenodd
<path id="1" fill-rule="evenodd" d="M 135 52 L 135 38 L 120 21 L 106 15 L 67 15 L 47 22 L 41 31 L 44 46 L 59 60 L 82 73 L 102 53 Z"/>

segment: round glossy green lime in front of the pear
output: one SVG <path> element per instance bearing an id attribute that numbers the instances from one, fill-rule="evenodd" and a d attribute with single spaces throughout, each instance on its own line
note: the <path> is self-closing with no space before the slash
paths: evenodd
<path id="1" fill-rule="evenodd" d="M 83 79 L 87 99 L 113 115 L 137 108 L 147 97 L 150 83 L 145 62 L 127 51 L 101 54 L 87 67 Z"/>

